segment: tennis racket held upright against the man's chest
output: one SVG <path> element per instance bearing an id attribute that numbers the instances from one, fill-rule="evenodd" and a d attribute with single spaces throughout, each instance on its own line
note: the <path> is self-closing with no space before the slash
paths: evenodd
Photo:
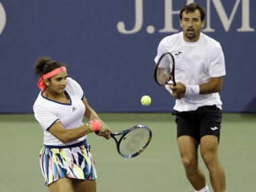
<path id="1" fill-rule="evenodd" d="M 170 52 L 166 52 L 160 56 L 154 70 L 156 83 L 161 86 L 176 86 L 174 78 L 175 61 Z"/>

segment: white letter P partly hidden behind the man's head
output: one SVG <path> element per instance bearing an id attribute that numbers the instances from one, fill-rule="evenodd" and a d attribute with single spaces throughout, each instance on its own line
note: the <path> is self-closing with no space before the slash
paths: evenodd
<path id="1" fill-rule="evenodd" d="M 190 3 L 194 3 L 193 0 L 187 0 L 187 5 Z M 165 32 L 179 32 L 179 30 L 173 28 L 172 15 L 179 15 L 179 11 L 172 10 L 172 0 L 164 1 L 164 28 L 159 30 L 160 33 Z"/>

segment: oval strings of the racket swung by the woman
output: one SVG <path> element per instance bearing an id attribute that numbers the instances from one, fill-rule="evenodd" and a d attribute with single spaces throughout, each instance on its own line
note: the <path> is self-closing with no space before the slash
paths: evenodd
<path id="1" fill-rule="evenodd" d="M 119 150 L 123 155 L 132 155 L 142 152 L 150 141 L 150 131 L 145 128 L 138 128 L 127 133 L 119 144 Z"/>

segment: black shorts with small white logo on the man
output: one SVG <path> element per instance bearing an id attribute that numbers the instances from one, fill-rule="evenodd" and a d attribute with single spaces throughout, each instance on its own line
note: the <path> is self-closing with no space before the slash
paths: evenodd
<path id="1" fill-rule="evenodd" d="M 177 124 L 177 138 L 191 136 L 200 143 L 206 135 L 214 135 L 220 140 L 220 124 L 222 123 L 222 110 L 216 105 L 199 107 L 195 111 L 174 111 Z"/>

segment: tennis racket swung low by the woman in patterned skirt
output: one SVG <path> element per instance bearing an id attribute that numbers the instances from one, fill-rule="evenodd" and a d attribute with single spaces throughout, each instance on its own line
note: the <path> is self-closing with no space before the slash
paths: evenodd
<path id="1" fill-rule="evenodd" d="M 125 158 L 132 158 L 141 154 L 150 144 L 152 132 L 150 128 L 138 125 L 122 132 L 112 132 L 110 136 L 115 140 L 119 154 Z"/>

